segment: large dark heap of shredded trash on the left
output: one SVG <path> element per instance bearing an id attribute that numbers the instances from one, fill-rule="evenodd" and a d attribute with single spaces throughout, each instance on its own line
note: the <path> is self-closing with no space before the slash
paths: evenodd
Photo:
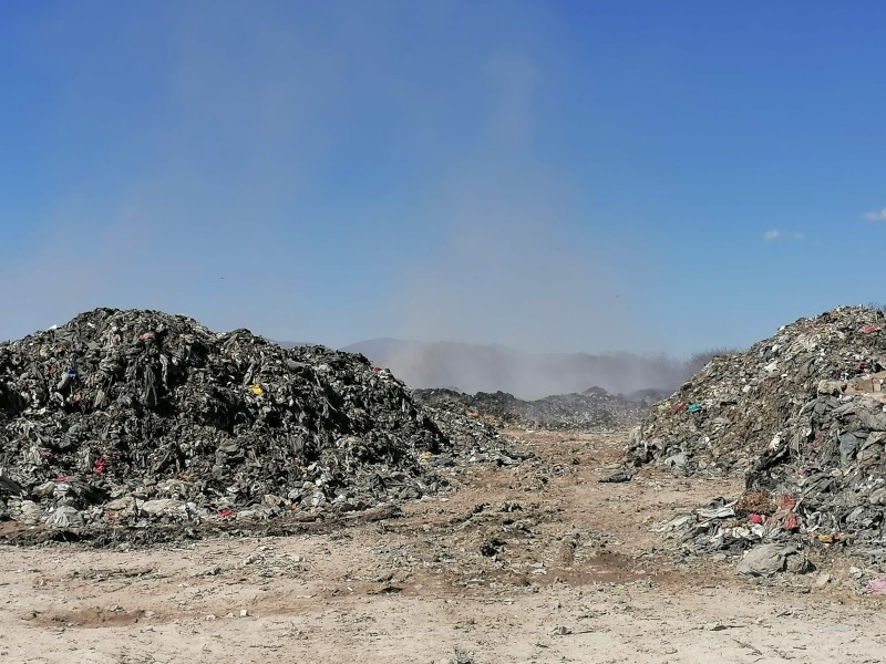
<path id="1" fill-rule="evenodd" d="M 449 445 L 388 371 L 323 346 L 112 309 L 0 344 L 0 519 L 360 509 L 437 490 Z"/>

